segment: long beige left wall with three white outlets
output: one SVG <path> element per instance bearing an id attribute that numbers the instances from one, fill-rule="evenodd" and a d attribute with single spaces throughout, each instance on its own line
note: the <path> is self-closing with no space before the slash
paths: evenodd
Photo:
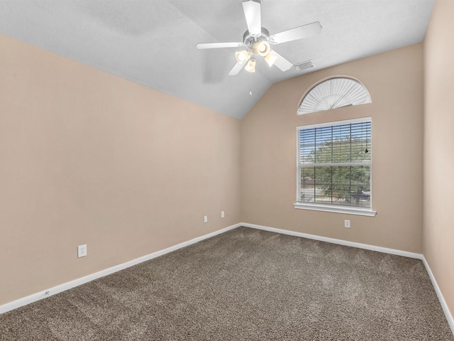
<path id="1" fill-rule="evenodd" d="M 240 221 L 240 121 L 0 48 L 0 305 Z"/>

